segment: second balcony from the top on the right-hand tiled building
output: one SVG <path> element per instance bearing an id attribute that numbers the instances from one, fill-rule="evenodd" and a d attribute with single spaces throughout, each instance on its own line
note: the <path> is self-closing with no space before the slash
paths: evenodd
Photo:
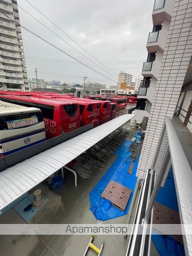
<path id="1" fill-rule="evenodd" d="M 167 35 L 167 31 L 164 29 L 149 33 L 147 41 L 147 51 L 149 53 L 157 52 L 158 50 L 164 52 Z"/>

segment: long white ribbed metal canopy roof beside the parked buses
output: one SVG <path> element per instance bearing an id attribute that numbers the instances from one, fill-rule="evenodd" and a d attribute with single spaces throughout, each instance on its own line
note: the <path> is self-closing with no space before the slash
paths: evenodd
<path id="1" fill-rule="evenodd" d="M 0 172 L 0 211 L 134 115 L 122 115 Z"/>

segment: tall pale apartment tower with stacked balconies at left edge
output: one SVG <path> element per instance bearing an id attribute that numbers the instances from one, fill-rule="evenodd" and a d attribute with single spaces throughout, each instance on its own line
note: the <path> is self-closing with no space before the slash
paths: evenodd
<path id="1" fill-rule="evenodd" d="M 6 17 L 3 13 L 8 17 Z M 12 20 L 14 21 L 12 21 Z M 17 1 L 0 1 L 1 90 L 29 89 Z"/>

